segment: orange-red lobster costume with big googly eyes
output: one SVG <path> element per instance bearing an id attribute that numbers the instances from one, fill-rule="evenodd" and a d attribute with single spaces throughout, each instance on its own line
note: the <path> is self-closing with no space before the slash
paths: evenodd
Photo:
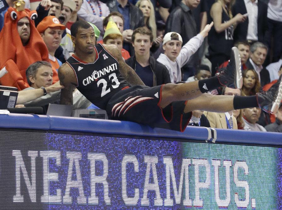
<path id="1" fill-rule="evenodd" d="M 0 32 L 0 83 L 23 90 L 29 87 L 25 76 L 27 67 L 39 60 L 48 61 L 49 57 L 48 48 L 34 25 L 36 11 L 24 9 L 20 4 L 24 3 L 18 1 L 16 8 L 8 8 Z M 17 23 L 23 17 L 27 17 L 30 22 L 30 38 L 25 46 L 17 29 Z M 57 81 L 58 73 L 53 69 L 53 83 Z"/>

